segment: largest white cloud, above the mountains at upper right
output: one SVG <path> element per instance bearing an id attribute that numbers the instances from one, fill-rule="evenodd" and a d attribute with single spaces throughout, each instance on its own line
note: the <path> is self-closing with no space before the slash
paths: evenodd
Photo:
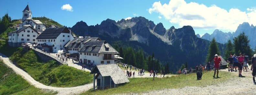
<path id="1" fill-rule="evenodd" d="M 243 12 L 236 8 L 225 10 L 216 5 L 206 6 L 195 2 L 187 3 L 184 0 L 170 0 L 169 4 L 155 2 L 148 12 L 159 13 L 179 26 L 190 25 L 202 29 L 218 28 L 235 31 L 243 22 L 256 25 L 256 8 L 247 8 L 247 12 Z"/>

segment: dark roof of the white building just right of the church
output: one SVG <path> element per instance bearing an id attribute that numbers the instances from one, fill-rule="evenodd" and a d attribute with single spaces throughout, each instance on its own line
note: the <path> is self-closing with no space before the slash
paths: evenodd
<path id="1" fill-rule="evenodd" d="M 55 39 L 57 38 L 60 33 L 63 33 L 67 27 L 57 27 L 57 28 L 46 28 L 38 37 L 37 39 Z"/>

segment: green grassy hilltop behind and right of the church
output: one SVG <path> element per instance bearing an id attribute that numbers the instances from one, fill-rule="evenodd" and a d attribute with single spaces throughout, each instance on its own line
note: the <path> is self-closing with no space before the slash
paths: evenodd
<path id="1" fill-rule="evenodd" d="M 54 25 L 54 26 L 59 26 L 61 27 L 62 25 L 60 25 L 58 22 L 49 19 L 47 17 L 33 17 L 32 19 L 34 20 L 40 20 L 43 24 L 45 24 L 47 27 Z"/>

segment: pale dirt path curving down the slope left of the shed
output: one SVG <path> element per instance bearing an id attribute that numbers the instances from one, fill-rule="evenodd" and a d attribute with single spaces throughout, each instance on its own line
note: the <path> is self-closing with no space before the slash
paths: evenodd
<path id="1" fill-rule="evenodd" d="M 58 91 L 59 95 L 68 95 L 68 94 L 79 94 L 84 91 L 90 90 L 93 87 L 93 83 L 85 84 L 82 86 L 76 86 L 76 87 L 69 87 L 69 88 L 59 88 L 59 87 L 51 87 L 46 86 L 40 82 L 37 82 L 35 79 L 33 79 L 27 72 L 24 70 L 16 67 L 12 62 L 10 62 L 9 58 L 5 55 L 0 53 L 0 58 L 3 59 L 4 63 L 13 69 L 16 74 L 21 75 L 24 79 L 26 79 L 31 85 L 34 85 L 35 87 L 39 89 L 44 90 L 53 90 Z"/>

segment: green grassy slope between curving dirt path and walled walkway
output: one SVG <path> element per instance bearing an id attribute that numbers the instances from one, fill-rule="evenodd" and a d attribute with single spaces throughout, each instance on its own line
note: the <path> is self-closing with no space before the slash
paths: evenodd
<path id="1" fill-rule="evenodd" d="M 55 87 L 73 87 L 92 82 L 90 72 L 82 71 L 67 65 L 58 65 L 56 61 L 40 63 L 33 50 L 23 52 L 16 51 L 11 60 L 17 63 L 21 69 L 28 72 L 35 80 Z"/>

